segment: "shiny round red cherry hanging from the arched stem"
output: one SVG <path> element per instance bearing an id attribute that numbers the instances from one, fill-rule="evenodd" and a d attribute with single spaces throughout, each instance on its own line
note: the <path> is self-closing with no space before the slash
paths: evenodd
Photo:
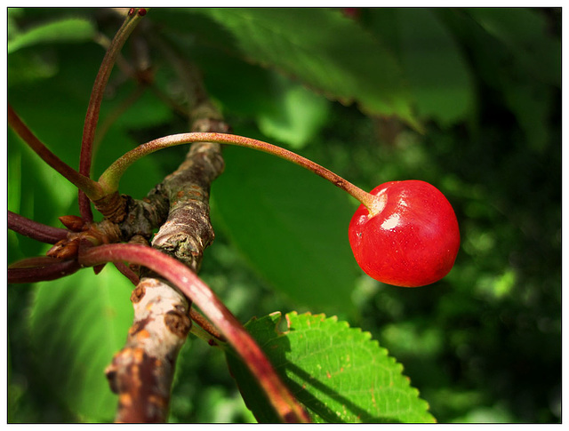
<path id="1" fill-rule="evenodd" d="M 451 270 L 461 235 L 453 207 L 419 180 L 391 181 L 371 192 L 374 215 L 362 204 L 349 222 L 357 264 L 381 283 L 418 287 Z"/>

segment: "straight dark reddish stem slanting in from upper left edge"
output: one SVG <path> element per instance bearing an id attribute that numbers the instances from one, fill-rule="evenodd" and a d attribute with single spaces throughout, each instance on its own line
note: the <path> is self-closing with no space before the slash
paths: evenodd
<path id="1" fill-rule="evenodd" d="M 55 156 L 52 151 L 45 147 L 44 143 L 29 130 L 28 126 L 24 124 L 10 104 L 8 104 L 8 124 L 10 124 L 12 130 L 28 144 L 28 147 L 36 152 L 37 156 L 40 156 L 41 159 L 44 160 L 46 164 L 49 164 L 55 171 L 60 172 L 60 174 L 76 186 L 76 188 L 83 190 L 87 196 L 100 196 L 102 189 L 97 181 L 93 181 L 80 172 L 76 172 L 75 169 L 63 162 L 58 156 Z"/>

